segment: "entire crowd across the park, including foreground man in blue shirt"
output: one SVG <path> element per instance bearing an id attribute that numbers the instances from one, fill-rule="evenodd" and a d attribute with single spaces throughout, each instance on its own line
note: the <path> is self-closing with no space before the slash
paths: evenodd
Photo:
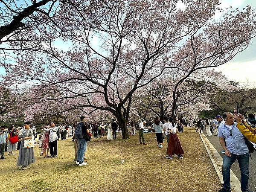
<path id="1" fill-rule="evenodd" d="M 11 156 L 15 155 L 14 151 L 19 150 L 17 166 L 20 169 L 28 169 L 30 164 L 35 162 L 34 142 L 41 148 L 40 156 L 52 158 L 58 156 L 59 138 L 66 140 L 66 137 L 72 137 L 75 151 L 74 161 L 76 165 L 84 166 L 87 165 L 84 162 L 87 142 L 92 137 L 90 132 L 93 132 L 94 138 L 104 138 L 105 131 L 108 131 L 107 140 L 115 140 L 116 134 L 122 131 L 118 128 L 115 119 L 111 123 L 105 124 L 87 123 L 85 116 L 81 116 L 80 122 L 74 123 L 72 126 L 67 124 L 55 126 L 55 122 L 51 122 L 42 127 L 42 132 L 36 132 L 35 127 L 31 125 L 31 122 L 25 122 L 23 127 L 17 129 L 12 125 L 8 131 L 5 126 L 0 127 L 1 160 L 5 159 L 5 151 Z M 222 165 L 224 184 L 220 192 L 230 192 L 230 167 L 236 160 L 238 160 L 241 171 L 241 191 L 248 192 L 249 156 L 254 151 L 253 143 L 256 143 L 256 116 L 249 114 L 245 119 L 236 111 L 234 113 L 225 112 L 223 118 L 218 115 L 212 119 L 190 119 L 189 121 L 178 119 L 177 125 L 169 115 L 163 117 L 163 122 L 160 121 L 159 116 L 156 116 L 152 123 L 143 120 L 135 125 L 134 122 L 129 122 L 128 131 L 130 135 L 135 135 L 135 130 L 138 129 L 139 141 L 143 145 L 147 145 L 144 132 L 154 131 L 159 148 L 163 147 L 163 140 L 167 141 L 166 158 L 173 159 L 173 155 L 177 155 L 177 158 L 182 159 L 184 151 L 177 133 L 183 133 L 184 126 L 195 127 L 196 132 L 199 129 L 200 133 L 205 128 L 207 136 L 214 134 L 219 137 L 220 144 L 224 149 L 222 152 L 225 153 Z"/>

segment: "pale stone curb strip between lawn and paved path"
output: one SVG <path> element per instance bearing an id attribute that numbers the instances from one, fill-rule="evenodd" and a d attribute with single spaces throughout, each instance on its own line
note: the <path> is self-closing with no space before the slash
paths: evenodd
<path id="1" fill-rule="evenodd" d="M 206 151 L 212 161 L 212 165 L 215 168 L 215 171 L 221 181 L 223 183 L 223 178 L 222 178 L 222 162 L 223 159 L 218 153 L 218 151 L 214 148 L 214 146 L 209 142 L 207 137 L 204 135 L 202 132 L 201 134 L 199 133 L 202 142 L 204 143 L 204 146 L 206 148 Z M 240 180 L 236 177 L 236 175 L 233 173 L 232 170 L 230 170 L 230 186 L 232 189 L 232 192 L 241 192 L 240 189 Z"/>

